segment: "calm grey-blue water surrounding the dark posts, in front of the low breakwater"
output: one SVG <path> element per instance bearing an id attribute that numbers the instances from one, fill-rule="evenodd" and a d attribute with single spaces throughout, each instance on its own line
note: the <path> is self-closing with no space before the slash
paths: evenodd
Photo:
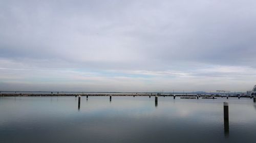
<path id="1" fill-rule="evenodd" d="M 254 142 L 256 104 L 218 99 L 0 97 L 0 142 Z"/>

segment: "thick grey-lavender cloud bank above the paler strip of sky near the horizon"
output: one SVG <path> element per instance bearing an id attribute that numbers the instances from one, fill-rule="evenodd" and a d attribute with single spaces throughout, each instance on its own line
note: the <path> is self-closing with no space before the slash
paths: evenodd
<path id="1" fill-rule="evenodd" d="M 28 68 L 225 76 L 197 70 L 256 67 L 255 6 L 250 0 L 2 0 L 0 58 Z"/>

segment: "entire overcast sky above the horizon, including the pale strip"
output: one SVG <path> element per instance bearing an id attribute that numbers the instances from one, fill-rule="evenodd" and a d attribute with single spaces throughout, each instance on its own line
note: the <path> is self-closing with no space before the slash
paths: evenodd
<path id="1" fill-rule="evenodd" d="M 0 0 L 0 91 L 245 92 L 253 0 Z"/>

